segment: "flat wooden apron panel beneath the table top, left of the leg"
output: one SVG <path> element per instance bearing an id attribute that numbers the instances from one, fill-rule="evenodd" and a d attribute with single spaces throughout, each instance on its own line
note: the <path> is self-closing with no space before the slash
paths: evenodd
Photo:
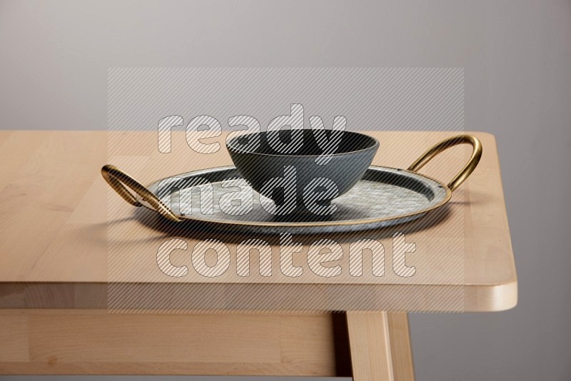
<path id="1" fill-rule="evenodd" d="M 335 376 L 330 314 L 1 310 L 0 374 Z"/>

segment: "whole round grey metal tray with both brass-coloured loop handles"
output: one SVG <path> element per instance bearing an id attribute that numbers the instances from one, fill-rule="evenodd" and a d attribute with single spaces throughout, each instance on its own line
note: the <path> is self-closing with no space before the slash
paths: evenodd
<path id="1" fill-rule="evenodd" d="M 468 164 L 448 185 L 416 172 L 438 153 L 460 143 L 470 143 L 473 146 L 473 154 Z M 101 173 L 128 203 L 156 210 L 164 217 L 177 222 L 202 221 L 218 225 L 231 233 L 330 233 L 385 228 L 422 217 L 450 200 L 452 191 L 470 176 L 481 155 L 482 146 L 477 138 L 468 135 L 455 136 L 430 148 L 408 170 L 371 166 L 357 185 L 333 200 L 337 210 L 332 215 L 308 213 L 289 216 L 287 220 L 266 212 L 260 203 L 263 196 L 256 192 L 253 192 L 253 208 L 249 213 L 232 215 L 223 212 L 218 200 L 230 190 L 223 188 L 222 181 L 241 178 L 233 166 L 182 173 L 155 181 L 148 187 L 142 186 L 114 166 L 103 166 Z M 208 181 L 212 186 L 213 208 L 208 210 L 208 214 L 201 210 L 200 198 L 204 194 L 203 189 L 199 193 L 192 192 L 191 187 L 178 187 L 178 197 L 174 193 L 171 197 L 170 190 L 175 182 L 193 183 L 193 178 Z M 123 184 L 131 188 L 136 195 L 130 193 Z M 162 192 L 166 194 L 158 194 L 159 184 L 161 190 L 169 191 Z M 199 185 L 198 188 L 205 186 L 210 187 Z M 182 214 L 180 210 L 186 213 Z"/>

